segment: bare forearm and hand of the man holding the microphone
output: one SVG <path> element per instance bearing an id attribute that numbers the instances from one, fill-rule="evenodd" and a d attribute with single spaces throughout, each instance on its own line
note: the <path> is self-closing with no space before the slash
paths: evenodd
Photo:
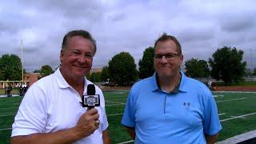
<path id="1" fill-rule="evenodd" d="M 98 110 L 91 109 L 82 114 L 79 118 L 77 125 L 66 130 L 59 130 L 54 133 L 38 133 L 30 135 L 20 135 L 11 138 L 10 143 L 12 144 L 45 144 L 45 143 L 73 143 L 79 139 L 88 137 L 90 134 L 94 133 L 94 130 L 98 129 L 99 125 L 99 114 Z"/>

